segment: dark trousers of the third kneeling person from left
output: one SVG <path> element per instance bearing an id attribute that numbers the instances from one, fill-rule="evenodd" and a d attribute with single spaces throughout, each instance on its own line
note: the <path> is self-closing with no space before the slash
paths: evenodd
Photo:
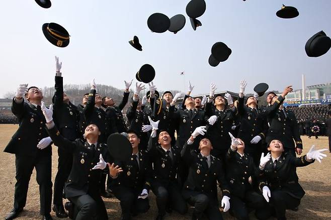
<path id="1" fill-rule="evenodd" d="M 180 214 L 187 212 L 187 204 L 177 182 L 171 181 L 168 186 L 165 186 L 153 181 L 152 191 L 156 196 L 158 214 L 164 215 L 167 207 L 171 207 Z"/>

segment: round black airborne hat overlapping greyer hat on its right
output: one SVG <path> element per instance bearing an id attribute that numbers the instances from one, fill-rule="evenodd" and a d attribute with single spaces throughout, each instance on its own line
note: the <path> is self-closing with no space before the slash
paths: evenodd
<path id="1" fill-rule="evenodd" d="M 147 26 L 152 32 L 163 33 L 168 31 L 170 19 L 161 13 L 154 13 L 147 19 Z"/>

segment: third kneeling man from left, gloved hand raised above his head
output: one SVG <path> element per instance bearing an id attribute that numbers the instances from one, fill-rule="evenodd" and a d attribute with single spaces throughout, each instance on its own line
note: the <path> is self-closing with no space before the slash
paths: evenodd
<path id="1" fill-rule="evenodd" d="M 151 189 L 156 195 L 158 208 L 156 219 L 164 219 L 165 212 L 171 212 L 172 209 L 180 214 L 185 214 L 187 204 L 181 195 L 176 177 L 181 160 L 180 149 L 171 145 L 171 136 L 168 131 L 159 130 L 156 135 L 159 121 L 153 122 L 149 117 L 149 122 L 152 126 L 152 133 L 147 150 L 153 165 Z"/>

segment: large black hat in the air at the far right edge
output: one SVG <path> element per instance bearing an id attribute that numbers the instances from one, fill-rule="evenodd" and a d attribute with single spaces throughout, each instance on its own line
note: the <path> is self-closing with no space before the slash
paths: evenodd
<path id="1" fill-rule="evenodd" d="M 314 34 L 305 45 L 308 57 L 319 57 L 324 55 L 331 47 L 331 39 L 323 31 Z"/>

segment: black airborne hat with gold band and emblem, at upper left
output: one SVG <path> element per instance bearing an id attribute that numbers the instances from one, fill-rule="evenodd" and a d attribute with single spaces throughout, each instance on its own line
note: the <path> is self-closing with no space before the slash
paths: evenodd
<path id="1" fill-rule="evenodd" d="M 46 39 L 57 47 L 66 47 L 69 44 L 70 35 L 56 23 L 45 23 L 42 27 Z"/>

